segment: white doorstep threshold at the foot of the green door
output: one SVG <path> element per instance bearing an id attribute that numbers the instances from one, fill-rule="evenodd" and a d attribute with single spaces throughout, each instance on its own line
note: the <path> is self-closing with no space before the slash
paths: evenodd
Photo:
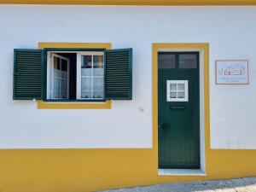
<path id="1" fill-rule="evenodd" d="M 158 175 L 206 176 L 201 169 L 158 169 Z"/>

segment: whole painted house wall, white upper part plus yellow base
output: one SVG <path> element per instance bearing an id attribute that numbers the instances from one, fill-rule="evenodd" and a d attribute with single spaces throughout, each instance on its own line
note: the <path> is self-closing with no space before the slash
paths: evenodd
<path id="1" fill-rule="evenodd" d="M 0 5 L 0 191 L 94 191 L 255 175 L 255 34 L 255 7 Z M 43 110 L 13 101 L 13 49 L 37 49 L 38 42 L 133 48 L 134 99 L 104 110 Z M 157 175 L 153 43 L 210 44 L 206 176 Z M 249 60 L 250 84 L 215 85 L 217 59 Z"/>

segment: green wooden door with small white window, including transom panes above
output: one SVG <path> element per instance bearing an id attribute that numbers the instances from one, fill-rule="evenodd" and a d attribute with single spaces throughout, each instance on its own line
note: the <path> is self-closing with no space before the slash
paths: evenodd
<path id="1" fill-rule="evenodd" d="M 159 52 L 159 168 L 200 168 L 199 53 Z"/>

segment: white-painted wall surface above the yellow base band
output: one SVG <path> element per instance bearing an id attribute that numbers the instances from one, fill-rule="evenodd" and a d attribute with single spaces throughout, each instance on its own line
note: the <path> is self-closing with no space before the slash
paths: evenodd
<path id="1" fill-rule="evenodd" d="M 134 99 L 111 110 L 13 101 L 13 49 L 38 42 L 133 48 Z M 0 148 L 151 148 L 152 43 L 210 43 L 211 146 L 256 148 L 256 7 L 51 5 L 0 5 Z M 250 84 L 215 85 L 216 59 L 248 59 Z"/>

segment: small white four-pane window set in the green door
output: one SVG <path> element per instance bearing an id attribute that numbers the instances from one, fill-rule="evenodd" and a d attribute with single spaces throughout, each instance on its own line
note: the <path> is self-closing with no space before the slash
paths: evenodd
<path id="1" fill-rule="evenodd" d="M 167 80 L 166 81 L 167 102 L 189 102 L 189 81 L 188 80 Z"/>

